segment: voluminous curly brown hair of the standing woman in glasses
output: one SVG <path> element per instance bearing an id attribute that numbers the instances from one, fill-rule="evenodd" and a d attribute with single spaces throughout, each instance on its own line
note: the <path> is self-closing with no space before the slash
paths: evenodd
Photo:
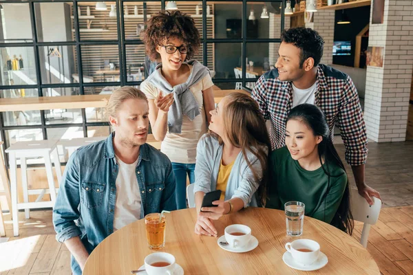
<path id="1" fill-rule="evenodd" d="M 152 61 L 159 61 L 160 54 L 156 52 L 156 46 L 163 45 L 165 39 L 180 39 L 187 45 L 187 60 L 191 59 L 200 47 L 200 32 L 195 27 L 195 21 L 187 14 L 179 10 L 170 12 L 158 12 L 149 19 L 146 30 L 140 37 L 145 43 L 145 50 Z"/>

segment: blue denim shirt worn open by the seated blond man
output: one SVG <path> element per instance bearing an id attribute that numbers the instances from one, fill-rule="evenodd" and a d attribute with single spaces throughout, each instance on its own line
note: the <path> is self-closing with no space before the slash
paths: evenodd
<path id="1" fill-rule="evenodd" d="M 90 253 L 114 232 L 116 162 L 114 133 L 106 140 L 78 148 L 67 162 L 53 209 L 56 239 L 79 236 Z M 176 210 L 175 177 L 168 157 L 149 144 L 140 146 L 136 178 L 142 199 L 140 219 Z M 81 269 L 72 257 L 73 274 Z"/>

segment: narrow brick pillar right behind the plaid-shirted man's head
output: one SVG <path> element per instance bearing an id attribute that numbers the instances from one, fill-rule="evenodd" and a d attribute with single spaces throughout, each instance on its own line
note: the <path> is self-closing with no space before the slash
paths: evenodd
<path id="1" fill-rule="evenodd" d="M 316 30 L 324 39 L 324 52 L 321 63 L 332 64 L 332 44 L 334 42 L 335 10 L 319 10 L 313 15 L 313 23 L 306 23 L 306 28 Z"/>

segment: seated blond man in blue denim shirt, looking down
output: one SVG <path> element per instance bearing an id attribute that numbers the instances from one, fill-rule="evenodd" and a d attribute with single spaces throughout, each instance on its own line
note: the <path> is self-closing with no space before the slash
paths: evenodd
<path id="1" fill-rule="evenodd" d="M 114 132 L 72 154 L 53 210 L 56 239 L 72 253 L 74 275 L 82 274 L 89 254 L 114 230 L 152 212 L 176 210 L 171 162 L 145 143 L 145 94 L 117 89 L 106 113 Z"/>

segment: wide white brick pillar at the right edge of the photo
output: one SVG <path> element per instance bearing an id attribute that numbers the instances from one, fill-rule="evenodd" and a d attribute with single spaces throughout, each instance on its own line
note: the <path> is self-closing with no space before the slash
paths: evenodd
<path id="1" fill-rule="evenodd" d="M 413 72 L 413 1 L 385 0 L 383 24 L 372 24 L 369 46 L 384 47 L 383 67 L 367 68 L 364 118 L 376 142 L 405 140 Z"/>

